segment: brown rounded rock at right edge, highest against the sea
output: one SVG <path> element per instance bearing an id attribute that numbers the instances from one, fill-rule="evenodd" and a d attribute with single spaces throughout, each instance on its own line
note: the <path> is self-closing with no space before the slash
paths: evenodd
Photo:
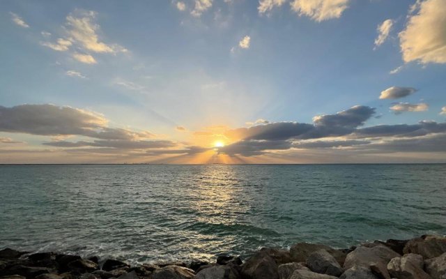
<path id="1" fill-rule="evenodd" d="M 424 259 L 438 257 L 446 252 L 446 238 L 441 236 L 422 236 L 411 239 L 403 249 L 404 254 L 422 255 Z"/>

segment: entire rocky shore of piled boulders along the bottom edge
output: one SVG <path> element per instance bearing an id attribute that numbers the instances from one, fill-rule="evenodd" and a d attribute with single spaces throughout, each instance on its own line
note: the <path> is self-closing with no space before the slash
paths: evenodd
<path id="1" fill-rule="evenodd" d="M 446 238 L 374 241 L 347 249 L 297 243 L 290 250 L 262 248 L 242 261 L 130 266 L 116 259 L 88 259 L 54 252 L 0 250 L 1 279 L 446 279 Z"/>

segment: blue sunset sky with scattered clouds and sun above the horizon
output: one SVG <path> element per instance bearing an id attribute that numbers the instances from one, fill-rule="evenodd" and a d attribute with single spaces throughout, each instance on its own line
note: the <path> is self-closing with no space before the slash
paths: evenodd
<path id="1" fill-rule="evenodd" d="M 0 13 L 0 163 L 446 163 L 445 0 Z"/>

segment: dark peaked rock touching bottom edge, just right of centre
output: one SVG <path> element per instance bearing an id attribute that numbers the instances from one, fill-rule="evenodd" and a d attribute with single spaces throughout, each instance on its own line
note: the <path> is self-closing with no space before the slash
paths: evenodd
<path id="1" fill-rule="evenodd" d="M 252 279 L 278 279 L 277 263 L 264 252 L 257 252 L 242 265 L 242 275 Z"/>

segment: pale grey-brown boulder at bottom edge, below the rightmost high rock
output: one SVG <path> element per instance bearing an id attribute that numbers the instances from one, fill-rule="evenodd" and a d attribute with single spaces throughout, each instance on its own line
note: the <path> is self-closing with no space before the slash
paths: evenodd
<path id="1" fill-rule="evenodd" d="M 399 279 L 430 279 L 423 271 L 423 256 L 406 254 L 403 257 L 394 257 L 387 264 L 387 270 L 392 277 Z"/>

